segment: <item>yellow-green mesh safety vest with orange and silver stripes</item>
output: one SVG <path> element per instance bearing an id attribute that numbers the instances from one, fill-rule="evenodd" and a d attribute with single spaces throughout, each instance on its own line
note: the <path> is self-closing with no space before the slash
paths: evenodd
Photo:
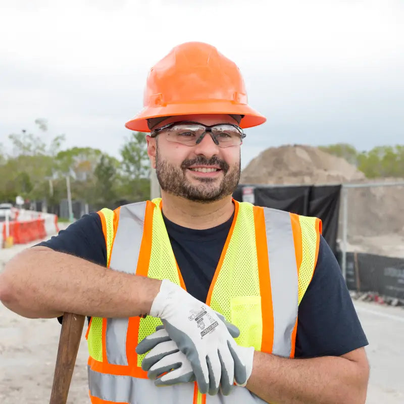
<path id="1" fill-rule="evenodd" d="M 236 342 L 294 356 L 297 310 L 316 267 L 321 221 L 249 203 L 234 219 L 206 303 L 240 329 Z M 160 198 L 103 209 L 108 267 L 169 279 L 185 288 L 162 216 Z M 264 401 L 245 387 L 230 395 L 200 394 L 196 383 L 156 387 L 135 347 L 161 320 L 92 317 L 87 330 L 88 382 L 93 404 L 249 404 Z"/>

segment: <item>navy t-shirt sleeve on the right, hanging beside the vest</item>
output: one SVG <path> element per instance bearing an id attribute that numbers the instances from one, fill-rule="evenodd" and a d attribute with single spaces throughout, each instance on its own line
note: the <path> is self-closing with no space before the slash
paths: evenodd
<path id="1" fill-rule="evenodd" d="M 338 262 L 321 236 L 313 279 L 298 309 L 295 357 L 341 356 L 365 345 Z"/>

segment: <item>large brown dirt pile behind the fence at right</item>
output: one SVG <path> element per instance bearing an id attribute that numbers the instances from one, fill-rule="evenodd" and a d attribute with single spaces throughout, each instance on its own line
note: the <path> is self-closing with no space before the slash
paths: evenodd
<path id="1" fill-rule="evenodd" d="M 270 147 L 242 171 L 240 184 L 329 184 L 369 180 L 346 160 L 305 145 Z M 401 180 L 403 181 L 403 180 Z M 341 220 L 342 215 L 340 215 Z M 341 228 L 341 227 L 340 227 Z M 404 234 L 404 186 L 348 189 L 348 238 Z"/>

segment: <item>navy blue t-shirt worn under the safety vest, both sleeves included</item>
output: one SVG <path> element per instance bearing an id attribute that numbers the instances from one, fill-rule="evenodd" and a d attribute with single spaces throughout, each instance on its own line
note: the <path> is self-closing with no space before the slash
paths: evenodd
<path id="1" fill-rule="evenodd" d="M 232 220 L 194 230 L 164 217 L 186 289 L 201 301 L 206 301 Z M 96 213 L 83 216 L 38 245 L 106 266 L 107 249 Z M 367 344 L 339 265 L 321 236 L 313 279 L 298 308 L 295 357 L 341 356 Z"/>

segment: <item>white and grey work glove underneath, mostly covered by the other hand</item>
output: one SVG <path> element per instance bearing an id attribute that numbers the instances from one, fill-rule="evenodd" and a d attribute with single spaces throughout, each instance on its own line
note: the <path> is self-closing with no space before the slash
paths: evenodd
<path id="1" fill-rule="evenodd" d="M 156 332 L 146 338 L 162 341 L 148 352 L 142 362 L 142 369 L 148 371 L 147 377 L 151 380 L 155 380 L 156 386 L 187 383 L 195 380 L 191 364 L 186 356 L 178 349 L 177 344 L 170 339 L 163 326 L 157 327 Z M 246 364 L 247 377 L 245 382 L 240 384 L 236 381 L 237 385 L 244 387 L 252 372 L 254 347 L 245 348 L 236 345 L 235 351 L 238 357 L 242 358 L 243 362 Z M 168 373 L 161 376 L 166 372 Z M 231 386 L 221 386 L 221 392 L 223 395 L 230 394 Z"/>

